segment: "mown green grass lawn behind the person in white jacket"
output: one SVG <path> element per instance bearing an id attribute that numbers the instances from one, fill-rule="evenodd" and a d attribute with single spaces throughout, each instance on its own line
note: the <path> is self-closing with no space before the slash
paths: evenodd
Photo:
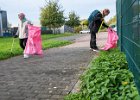
<path id="1" fill-rule="evenodd" d="M 65 36 L 71 36 L 74 34 L 66 33 L 66 34 L 48 34 L 48 35 L 42 35 L 42 46 L 43 49 L 53 48 L 53 47 L 59 47 L 71 44 L 70 41 L 63 41 L 63 40 L 55 40 L 53 38 L 57 37 L 65 37 Z M 12 46 L 13 38 L 0 38 L 0 60 L 7 59 L 13 56 L 21 55 L 23 53 L 23 50 L 19 46 L 19 39 L 16 38 L 13 46 L 13 50 L 11 53 L 11 46 Z"/>

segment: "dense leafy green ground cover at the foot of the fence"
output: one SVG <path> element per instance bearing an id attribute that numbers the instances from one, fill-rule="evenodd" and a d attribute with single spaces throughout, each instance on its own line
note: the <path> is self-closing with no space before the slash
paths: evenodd
<path id="1" fill-rule="evenodd" d="M 118 49 L 100 52 L 81 81 L 80 92 L 64 100 L 140 100 L 125 55 Z"/>

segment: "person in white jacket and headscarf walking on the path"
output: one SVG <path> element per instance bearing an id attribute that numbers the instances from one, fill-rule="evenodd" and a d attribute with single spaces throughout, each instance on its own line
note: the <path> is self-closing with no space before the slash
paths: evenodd
<path id="1" fill-rule="evenodd" d="M 26 47 L 27 39 L 28 39 L 28 26 L 27 25 L 30 24 L 30 22 L 26 19 L 24 13 L 18 14 L 18 18 L 19 18 L 18 30 L 15 35 L 15 38 L 19 37 L 20 47 L 24 50 Z M 28 57 L 29 56 L 27 54 L 24 54 L 24 58 L 28 58 Z"/>

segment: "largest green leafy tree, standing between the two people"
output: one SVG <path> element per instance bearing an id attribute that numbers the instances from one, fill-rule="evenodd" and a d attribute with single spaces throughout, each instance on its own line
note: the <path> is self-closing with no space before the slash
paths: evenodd
<path id="1" fill-rule="evenodd" d="M 40 22 L 42 26 L 47 26 L 49 29 L 59 28 L 64 25 L 64 10 L 58 5 L 58 1 L 49 0 L 41 8 Z"/>

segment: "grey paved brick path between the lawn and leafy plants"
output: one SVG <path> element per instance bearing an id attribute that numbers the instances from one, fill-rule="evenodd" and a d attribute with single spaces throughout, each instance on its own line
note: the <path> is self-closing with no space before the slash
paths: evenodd
<path id="1" fill-rule="evenodd" d="M 74 44 L 44 51 L 43 57 L 0 61 L 0 100 L 63 100 L 96 54 L 89 40 L 84 34 Z M 102 34 L 97 39 L 104 40 Z"/>

